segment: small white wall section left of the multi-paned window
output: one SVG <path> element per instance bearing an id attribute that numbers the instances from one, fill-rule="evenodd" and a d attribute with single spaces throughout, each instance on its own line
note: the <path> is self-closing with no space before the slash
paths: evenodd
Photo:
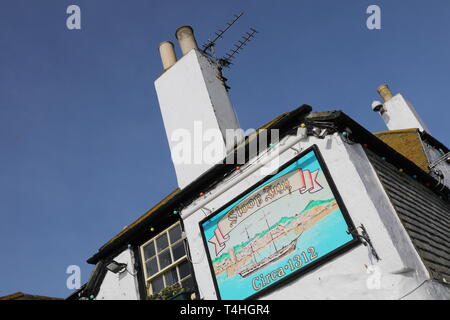
<path id="1" fill-rule="evenodd" d="M 127 249 L 114 260 L 127 264 L 127 271 L 112 273 L 107 271 L 95 300 L 139 300 L 139 287 L 136 270 L 134 270 L 133 251 Z"/>

